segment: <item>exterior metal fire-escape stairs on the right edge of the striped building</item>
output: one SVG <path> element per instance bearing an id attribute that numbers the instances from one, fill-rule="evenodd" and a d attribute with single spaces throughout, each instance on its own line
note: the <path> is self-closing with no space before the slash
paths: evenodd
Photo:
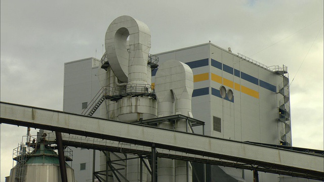
<path id="1" fill-rule="evenodd" d="M 277 121 L 285 124 L 285 128 L 281 130 L 281 143 L 280 145 L 291 146 L 292 140 L 290 138 L 291 132 L 291 114 L 290 114 L 290 93 L 289 93 L 289 74 L 287 66 L 282 65 L 282 68 L 275 66 L 273 71 L 282 76 L 282 82 L 278 86 L 278 93 L 282 95 L 278 105 Z"/>

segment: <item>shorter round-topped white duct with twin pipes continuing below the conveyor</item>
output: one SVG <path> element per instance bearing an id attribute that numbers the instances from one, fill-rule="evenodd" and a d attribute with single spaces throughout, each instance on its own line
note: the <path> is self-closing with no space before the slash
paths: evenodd
<path id="1" fill-rule="evenodd" d="M 155 75 L 155 94 L 159 117 L 173 114 L 191 116 L 191 96 L 193 92 L 193 74 L 190 67 L 180 61 L 169 60 L 161 64 Z M 173 129 L 169 122 L 159 127 Z M 185 120 L 178 120 L 175 129 L 187 131 Z M 186 161 L 160 158 L 157 162 L 158 181 L 191 181 L 192 167 Z"/>

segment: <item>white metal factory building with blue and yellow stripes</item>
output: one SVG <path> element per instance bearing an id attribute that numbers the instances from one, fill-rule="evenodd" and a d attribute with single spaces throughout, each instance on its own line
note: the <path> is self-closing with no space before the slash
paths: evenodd
<path id="1" fill-rule="evenodd" d="M 289 100 L 285 103 L 285 98 L 289 98 L 289 88 L 284 86 L 284 80 L 288 78 L 287 67 L 267 67 L 213 43 L 155 56 L 159 58 L 158 64 L 173 59 L 192 69 L 192 115 L 205 122 L 206 135 L 235 141 L 291 145 Z M 99 64 L 100 60 L 95 58 L 65 63 L 63 111 L 82 113 L 95 97 L 100 90 Z M 152 85 L 156 70 L 152 72 Z M 102 105 L 101 109 L 106 109 L 104 107 Z M 282 107 L 287 115 L 281 111 Z M 97 111 L 94 116 L 100 117 L 100 113 Z M 201 127 L 195 130 L 196 133 L 203 132 Z M 73 151 L 72 167 L 76 179 L 78 176 L 79 181 L 91 179 L 93 159 L 89 156 L 92 156 L 92 150 Z M 86 168 L 80 168 L 84 165 Z M 225 174 L 244 176 L 246 181 L 253 177 L 249 170 L 222 169 Z M 269 173 L 260 173 L 259 177 L 262 181 L 278 180 L 278 175 Z"/>

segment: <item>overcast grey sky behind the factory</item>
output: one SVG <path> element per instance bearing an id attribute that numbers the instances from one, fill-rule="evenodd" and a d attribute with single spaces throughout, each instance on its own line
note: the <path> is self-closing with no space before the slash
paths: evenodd
<path id="1" fill-rule="evenodd" d="M 293 145 L 323 150 L 322 0 L 1 0 L 1 101 L 62 110 L 64 63 L 100 59 L 107 27 L 121 15 L 148 25 L 151 54 L 210 40 L 267 66 L 288 66 Z M 0 126 L 5 181 L 26 128 Z"/>

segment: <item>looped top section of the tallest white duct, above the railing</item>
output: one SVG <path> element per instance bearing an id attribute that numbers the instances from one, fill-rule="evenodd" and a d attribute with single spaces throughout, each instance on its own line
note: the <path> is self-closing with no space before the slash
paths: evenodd
<path id="1" fill-rule="evenodd" d="M 127 50 L 129 36 L 130 55 Z M 147 84 L 147 60 L 151 33 L 147 25 L 130 16 L 120 16 L 109 25 L 105 49 L 116 77 L 129 84 Z"/>

